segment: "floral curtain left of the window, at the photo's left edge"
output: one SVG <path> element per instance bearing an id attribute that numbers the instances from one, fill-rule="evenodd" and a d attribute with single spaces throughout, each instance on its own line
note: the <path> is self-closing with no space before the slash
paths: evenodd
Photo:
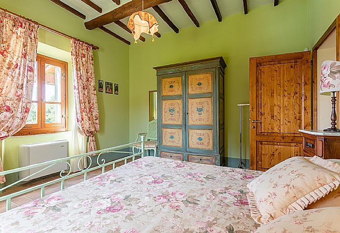
<path id="1" fill-rule="evenodd" d="M 30 113 L 37 32 L 36 23 L 0 10 L 0 141 L 22 129 Z"/>

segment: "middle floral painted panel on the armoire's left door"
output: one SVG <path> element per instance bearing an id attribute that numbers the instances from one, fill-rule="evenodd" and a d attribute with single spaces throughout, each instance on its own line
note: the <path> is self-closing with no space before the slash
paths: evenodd
<path id="1" fill-rule="evenodd" d="M 182 124 L 183 122 L 182 100 L 162 100 L 162 123 Z"/>

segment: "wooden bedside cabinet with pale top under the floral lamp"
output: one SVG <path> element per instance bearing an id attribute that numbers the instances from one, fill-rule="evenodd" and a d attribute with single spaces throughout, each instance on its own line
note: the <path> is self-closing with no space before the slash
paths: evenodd
<path id="1" fill-rule="evenodd" d="M 340 133 L 326 133 L 323 130 L 299 130 L 302 133 L 303 155 L 317 155 L 324 159 L 340 159 Z"/>

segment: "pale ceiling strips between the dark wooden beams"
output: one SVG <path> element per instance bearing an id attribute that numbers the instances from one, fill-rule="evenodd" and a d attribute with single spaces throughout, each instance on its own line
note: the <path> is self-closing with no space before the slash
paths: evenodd
<path id="1" fill-rule="evenodd" d="M 91 8 L 81 0 L 62 0 L 62 1 L 68 4 L 69 6 L 73 7 L 74 9 L 78 10 L 79 12 L 83 13 L 84 15 L 86 15 L 85 21 L 89 21 L 101 15 L 101 13 Z M 104 14 L 121 6 L 122 4 L 125 4 L 130 0 L 121 0 L 120 5 L 117 5 L 112 0 L 92 0 L 92 1 L 99 5 L 100 7 L 102 7 L 102 14 Z M 200 24 L 211 20 L 217 21 L 216 14 L 211 6 L 210 0 L 186 0 L 186 3 L 188 4 L 189 8 L 194 13 L 195 17 L 197 18 Z M 228 15 L 243 12 L 242 0 L 217 0 L 217 3 L 223 18 Z M 267 4 L 273 4 L 273 0 L 248 0 L 248 11 L 251 11 L 252 9 L 258 6 Z M 179 28 L 179 33 L 182 28 L 195 26 L 194 23 L 189 18 L 189 16 L 183 10 L 182 6 L 179 4 L 178 0 L 172 0 L 170 2 L 161 4 L 160 8 L 166 13 L 166 15 L 170 18 L 174 25 L 176 25 L 176 27 Z M 153 14 L 156 17 L 160 25 L 159 26 L 160 34 L 173 32 L 172 29 L 168 26 L 168 24 L 165 23 L 163 19 L 152 8 L 146 9 L 145 11 Z M 121 21 L 127 24 L 128 20 L 129 17 Z M 111 30 L 112 32 L 118 34 L 119 36 L 127 40 L 130 40 L 131 42 L 134 41 L 134 39 L 127 31 L 120 28 L 115 23 L 105 25 L 105 27 Z M 145 35 L 144 37 L 147 38 L 148 36 Z"/>

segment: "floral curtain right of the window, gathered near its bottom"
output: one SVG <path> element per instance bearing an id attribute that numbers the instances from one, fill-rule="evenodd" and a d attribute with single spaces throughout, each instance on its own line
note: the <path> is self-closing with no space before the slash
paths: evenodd
<path id="1" fill-rule="evenodd" d="M 99 113 L 92 47 L 71 39 L 71 57 L 78 129 L 81 135 L 89 136 L 88 152 L 97 151 L 95 133 L 99 131 Z"/>

